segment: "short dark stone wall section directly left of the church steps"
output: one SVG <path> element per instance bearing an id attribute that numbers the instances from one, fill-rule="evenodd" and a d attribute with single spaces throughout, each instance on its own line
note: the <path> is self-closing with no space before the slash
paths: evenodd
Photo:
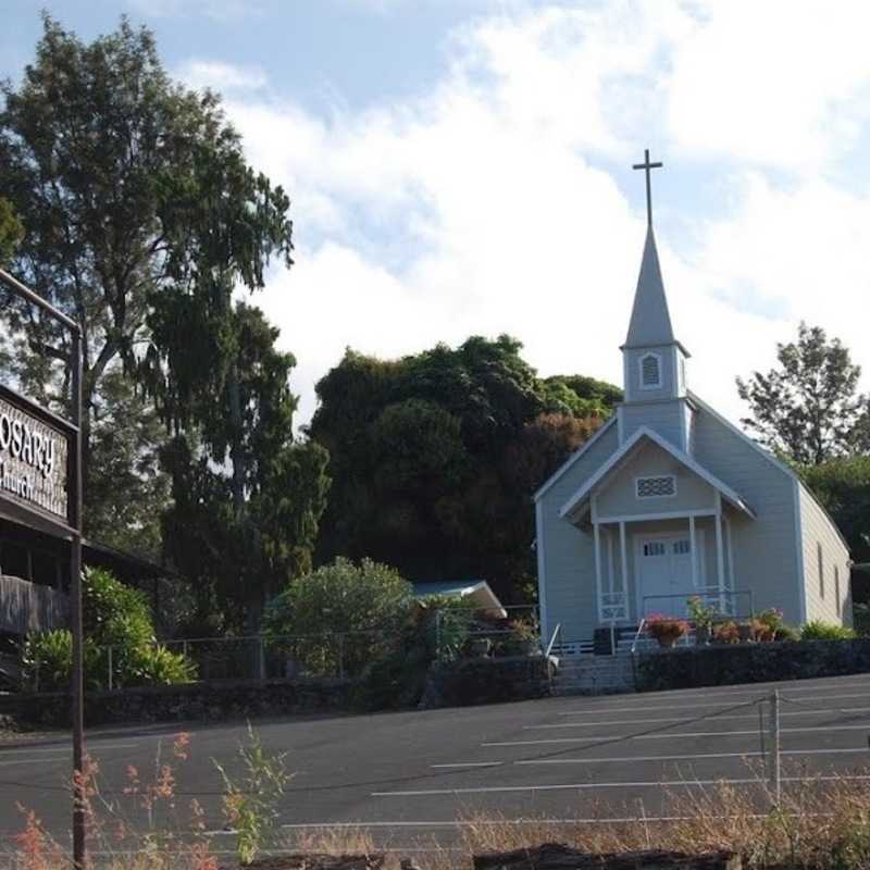
<path id="1" fill-rule="evenodd" d="M 420 709 L 499 704 L 550 694 L 550 664 L 544 656 L 469 658 L 435 662 Z"/>

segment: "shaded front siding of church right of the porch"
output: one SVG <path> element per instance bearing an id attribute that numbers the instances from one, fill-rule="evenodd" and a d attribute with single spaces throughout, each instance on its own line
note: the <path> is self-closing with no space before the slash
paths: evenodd
<path id="1" fill-rule="evenodd" d="M 794 477 L 704 408 L 695 414 L 693 434 L 697 461 L 757 514 L 755 520 L 732 515 L 736 587 L 753 591 L 757 610 L 779 607 L 786 622 L 799 623 L 803 577 Z"/>

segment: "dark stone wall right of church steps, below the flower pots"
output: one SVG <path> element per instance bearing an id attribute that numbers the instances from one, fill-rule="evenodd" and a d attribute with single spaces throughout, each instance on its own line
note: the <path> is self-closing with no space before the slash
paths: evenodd
<path id="1" fill-rule="evenodd" d="M 870 672 L 870 638 L 678 647 L 637 657 L 638 692 Z"/>

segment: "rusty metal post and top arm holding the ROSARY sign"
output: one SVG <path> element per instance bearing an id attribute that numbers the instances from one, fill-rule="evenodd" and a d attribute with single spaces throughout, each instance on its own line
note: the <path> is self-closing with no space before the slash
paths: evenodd
<path id="1" fill-rule="evenodd" d="M 82 330 L 79 325 L 67 318 L 62 311 L 47 302 L 42 297 L 25 287 L 9 273 L 0 269 L 0 282 L 8 289 L 36 306 L 54 321 L 69 330 L 71 336 L 71 418 L 72 426 L 69 427 L 67 437 L 72 440 L 72 450 L 67 450 L 67 510 L 66 522 L 54 520 L 58 535 L 70 538 L 70 631 L 73 636 L 73 673 L 70 685 L 72 694 L 73 717 L 73 866 L 76 870 L 84 870 L 85 855 L 85 681 L 84 681 L 84 646 L 82 629 Z M 41 438 L 41 435 L 40 435 Z M 36 448 L 34 448 L 36 449 Z M 0 500 L 8 497 L 0 488 Z M 46 520 L 45 512 L 38 508 L 29 508 L 15 501 L 18 510 L 29 510 Z"/>

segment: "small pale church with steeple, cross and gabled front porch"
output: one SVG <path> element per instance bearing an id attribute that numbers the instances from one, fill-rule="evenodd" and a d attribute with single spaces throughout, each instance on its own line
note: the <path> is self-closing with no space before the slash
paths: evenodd
<path id="1" fill-rule="evenodd" d="M 624 401 L 534 496 L 542 636 L 561 625 L 564 643 L 584 643 L 685 616 L 693 595 L 735 617 L 779 608 L 792 625 L 852 624 L 849 554 L 831 518 L 688 388 L 651 220 L 621 350 Z"/>

